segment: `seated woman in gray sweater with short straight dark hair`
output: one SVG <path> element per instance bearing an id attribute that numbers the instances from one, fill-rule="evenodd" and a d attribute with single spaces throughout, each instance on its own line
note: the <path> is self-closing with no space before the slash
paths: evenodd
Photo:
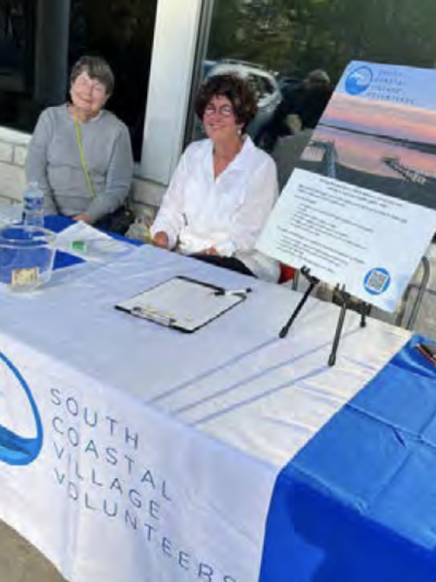
<path id="1" fill-rule="evenodd" d="M 70 83 L 71 103 L 39 116 L 26 179 L 44 190 L 45 214 L 110 229 L 108 217 L 124 203 L 133 176 L 128 128 L 104 109 L 113 92 L 113 74 L 104 59 L 82 57 Z"/>

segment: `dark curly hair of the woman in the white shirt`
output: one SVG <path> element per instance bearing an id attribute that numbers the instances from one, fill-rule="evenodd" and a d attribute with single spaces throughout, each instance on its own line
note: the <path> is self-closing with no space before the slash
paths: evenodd
<path id="1" fill-rule="evenodd" d="M 207 79 L 195 98 L 195 112 L 199 119 L 203 120 L 206 107 L 217 95 L 229 99 L 237 123 L 245 131 L 257 111 L 256 97 L 249 83 L 235 74 L 217 74 Z"/>

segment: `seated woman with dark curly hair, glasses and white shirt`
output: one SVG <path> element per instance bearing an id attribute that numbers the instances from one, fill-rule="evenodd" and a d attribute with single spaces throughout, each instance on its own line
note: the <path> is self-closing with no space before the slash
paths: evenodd
<path id="1" fill-rule="evenodd" d="M 245 134 L 256 109 L 251 88 L 235 75 L 203 84 L 195 111 L 208 139 L 182 155 L 152 237 L 157 247 L 277 281 L 278 263 L 254 249 L 278 195 L 275 163 Z"/>

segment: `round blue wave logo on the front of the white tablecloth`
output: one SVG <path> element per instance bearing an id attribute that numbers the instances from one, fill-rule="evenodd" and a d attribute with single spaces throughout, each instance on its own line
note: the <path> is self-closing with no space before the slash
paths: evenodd
<path id="1" fill-rule="evenodd" d="M 28 465 L 35 461 L 41 450 L 44 438 L 43 423 L 27 382 L 16 366 L 14 366 L 14 364 L 0 352 L 0 366 L 1 365 L 5 366 L 8 371 L 12 373 L 17 381 L 17 387 L 23 389 L 27 397 L 36 425 L 36 437 L 21 437 L 16 432 L 0 425 L 0 461 L 3 461 L 9 465 Z"/>

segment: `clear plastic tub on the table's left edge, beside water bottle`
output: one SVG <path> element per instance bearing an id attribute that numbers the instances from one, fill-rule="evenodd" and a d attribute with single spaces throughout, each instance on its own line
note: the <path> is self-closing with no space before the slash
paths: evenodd
<path id="1" fill-rule="evenodd" d="M 0 285 L 31 292 L 50 281 L 56 235 L 46 228 L 8 225 L 0 228 Z"/>

